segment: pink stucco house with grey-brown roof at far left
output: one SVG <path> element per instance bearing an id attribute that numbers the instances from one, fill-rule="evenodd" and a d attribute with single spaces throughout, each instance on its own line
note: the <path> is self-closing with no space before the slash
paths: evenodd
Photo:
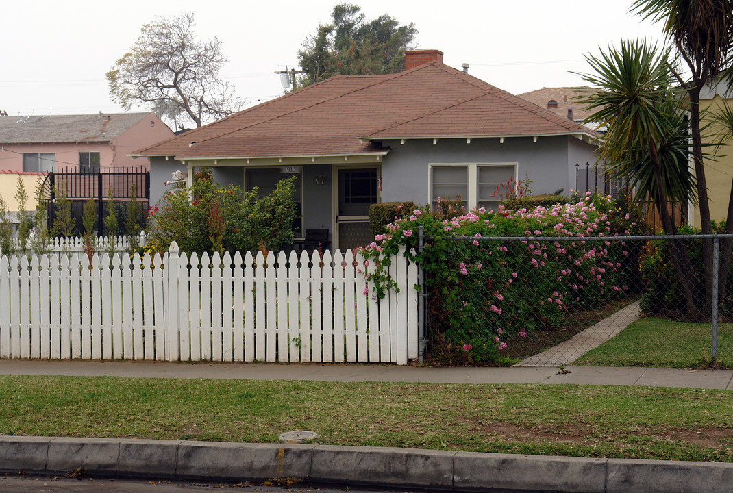
<path id="1" fill-rule="evenodd" d="M 154 113 L 0 116 L 0 171 L 148 171 L 128 154 L 172 136 Z"/>

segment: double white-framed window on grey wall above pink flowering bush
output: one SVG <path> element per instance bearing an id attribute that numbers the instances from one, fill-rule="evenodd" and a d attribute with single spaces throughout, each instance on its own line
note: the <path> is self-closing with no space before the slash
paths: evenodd
<path id="1" fill-rule="evenodd" d="M 517 163 L 460 163 L 430 165 L 430 204 L 439 197 L 461 196 L 466 210 L 496 210 L 509 180 L 517 180 Z M 495 193 L 497 188 L 499 193 Z"/>

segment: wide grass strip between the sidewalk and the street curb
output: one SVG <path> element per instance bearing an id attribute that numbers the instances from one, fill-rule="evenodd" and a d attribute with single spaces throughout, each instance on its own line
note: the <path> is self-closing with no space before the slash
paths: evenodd
<path id="1" fill-rule="evenodd" d="M 6 435 L 733 462 L 726 390 L 3 376 L 0 402 Z"/>

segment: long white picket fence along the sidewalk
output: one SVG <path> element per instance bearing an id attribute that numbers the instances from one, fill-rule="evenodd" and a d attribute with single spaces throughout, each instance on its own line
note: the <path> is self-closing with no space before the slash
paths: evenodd
<path id="1" fill-rule="evenodd" d="M 0 357 L 406 364 L 418 270 L 403 253 L 382 300 L 351 251 L 1 256 Z"/>

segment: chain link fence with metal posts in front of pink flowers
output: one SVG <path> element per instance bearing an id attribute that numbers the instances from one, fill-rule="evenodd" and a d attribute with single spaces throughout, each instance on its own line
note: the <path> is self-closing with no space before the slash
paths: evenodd
<path id="1" fill-rule="evenodd" d="M 425 238 L 444 262 L 424 273 L 427 360 L 733 367 L 733 286 L 713 283 L 725 240 Z"/>

